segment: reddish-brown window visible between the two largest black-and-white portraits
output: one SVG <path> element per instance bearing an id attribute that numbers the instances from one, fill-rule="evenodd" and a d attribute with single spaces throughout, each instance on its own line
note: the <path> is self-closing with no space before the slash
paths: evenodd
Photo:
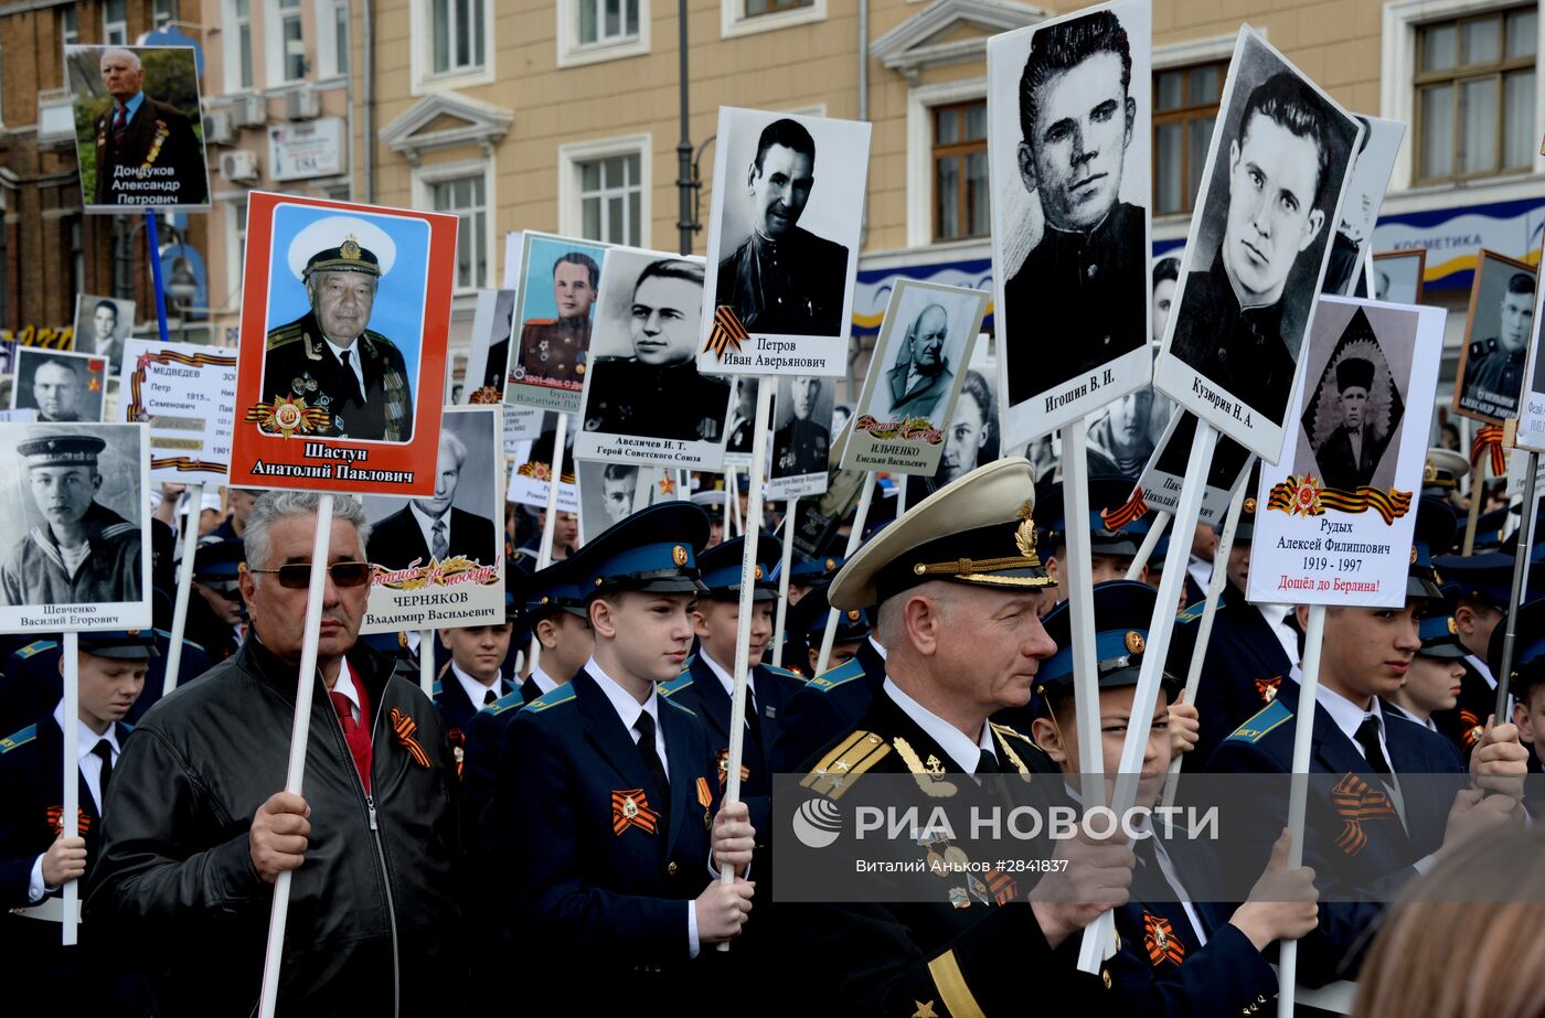
<path id="1" fill-rule="evenodd" d="M 1154 74 L 1154 213 L 1191 212 L 1228 60 Z"/>

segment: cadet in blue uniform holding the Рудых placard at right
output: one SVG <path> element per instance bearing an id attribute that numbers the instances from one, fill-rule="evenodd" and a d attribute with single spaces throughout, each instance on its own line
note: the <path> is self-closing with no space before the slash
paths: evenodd
<path id="1" fill-rule="evenodd" d="M 1401 609 L 1332 607 L 1326 612 L 1319 686 L 1315 697 L 1313 751 L 1309 772 L 1340 775 L 1312 782 L 1306 814 L 1304 864 L 1315 870 L 1321 898 L 1319 927 L 1299 941 L 1298 978 L 1323 986 L 1350 978 L 1361 964 L 1369 925 L 1381 905 L 1415 873 L 1458 839 L 1499 819 L 1522 814 L 1508 794 L 1468 788 L 1454 746 L 1421 724 L 1392 717 L 1380 697 L 1406 678 L 1420 649 L 1418 613 L 1440 592 L 1434 582 L 1434 547 L 1454 539 L 1454 513 L 1423 499 L 1417 516 L 1415 556 Z M 1307 615 L 1307 609 L 1298 609 Z M 1299 686 L 1284 681 L 1272 703 L 1239 726 L 1213 754 L 1208 771 L 1287 774 L 1293 760 L 1293 717 Z M 1522 777 L 1526 754 L 1509 724 L 1489 728 L 1471 758 L 1474 777 Z M 1409 782 L 1401 777 L 1426 775 Z M 1437 775 L 1448 774 L 1443 782 Z M 1418 785 L 1420 782 L 1420 785 Z M 1270 840 L 1287 817 L 1282 794 L 1251 799 L 1250 814 L 1234 828 L 1234 860 L 1265 860 Z M 1355 803 L 1347 823 L 1346 800 Z"/>

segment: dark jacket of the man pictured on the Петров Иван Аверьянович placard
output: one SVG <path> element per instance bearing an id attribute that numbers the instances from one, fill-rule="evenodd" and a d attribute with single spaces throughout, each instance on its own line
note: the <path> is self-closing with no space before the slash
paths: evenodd
<path id="1" fill-rule="evenodd" d="M 839 335 L 848 249 L 794 226 L 782 239 L 756 230 L 718 263 L 714 301 L 749 332 Z"/>

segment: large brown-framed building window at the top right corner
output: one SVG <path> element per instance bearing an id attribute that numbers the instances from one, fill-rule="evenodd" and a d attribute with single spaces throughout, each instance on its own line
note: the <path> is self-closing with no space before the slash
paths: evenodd
<path id="1" fill-rule="evenodd" d="M 1534 165 L 1534 5 L 1417 28 L 1415 182 Z"/>

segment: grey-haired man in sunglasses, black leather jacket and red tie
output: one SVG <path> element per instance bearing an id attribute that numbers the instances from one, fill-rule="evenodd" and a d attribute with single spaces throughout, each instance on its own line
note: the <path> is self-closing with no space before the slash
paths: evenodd
<path id="1" fill-rule="evenodd" d="M 456 760 L 428 697 L 357 640 L 371 528 L 351 496 L 329 531 L 304 789 L 283 791 L 320 497 L 258 499 L 252 638 L 156 703 L 114 769 L 85 921 L 147 973 L 158 1018 L 255 1013 L 284 871 L 281 1012 L 434 1013 L 467 969 Z"/>

